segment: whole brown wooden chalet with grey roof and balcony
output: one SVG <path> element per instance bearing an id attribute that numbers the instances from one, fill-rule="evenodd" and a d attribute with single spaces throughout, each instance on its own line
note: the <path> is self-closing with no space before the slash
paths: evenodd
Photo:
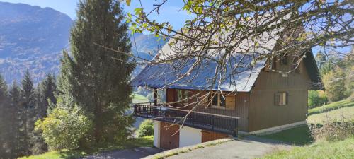
<path id="1" fill-rule="evenodd" d="M 272 54 L 273 50 L 279 48 L 278 40 L 285 36 L 289 35 L 284 31 L 282 35 L 275 35 L 272 40 L 268 39 L 263 44 L 260 40 L 258 45 L 267 48 L 260 52 Z M 159 56 L 173 52 L 169 45 L 165 45 Z M 239 73 L 233 74 L 231 72 L 234 65 L 231 64 L 231 69 L 226 71 L 227 78 L 212 88 L 210 78 L 214 76 L 217 66 L 213 61 L 203 61 L 204 67 L 192 71 L 190 76 L 178 81 L 176 79 L 193 64 L 193 60 L 186 62 L 185 69 L 180 69 L 179 72 L 173 71 L 174 65 L 181 63 L 178 60 L 148 65 L 132 81 L 132 85 L 164 88 L 166 103 L 181 101 L 197 93 L 203 94 L 205 90 L 222 90 L 223 95 L 218 91 L 210 99 L 210 104 L 193 110 L 183 126 L 181 123 L 169 125 L 176 122 L 178 117 L 184 117 L 193 105 L 183 109 L 177 109 L 178 107 L 198 102 L 193 98 L 171 105 L 159 104 L 156 100 L 152 105 L 138 104 L 135 105 L 135 116 L 154 119 L 154 146 L 165 149 L 237 136 L 239 133 L 259 134 L 306 124 L 307 92 L 322 89 L 323 85 L 311 49 L 299 50 L 299 54 L 305 56 L 299 61 L 295 71 L 290 71 L 294 70 L 295 62 L 292 54 L 272 58 L 269 56 L 268 59 L 251 64 L 256 55 L 239 58 L 240 54 L 235 52 L 234 60 L 231 61 L 246 67 L 234 68 Z M 198 75 L 194 76 L 193 73 Z M 235 90 L 237 92 L 232 93 Z"/>

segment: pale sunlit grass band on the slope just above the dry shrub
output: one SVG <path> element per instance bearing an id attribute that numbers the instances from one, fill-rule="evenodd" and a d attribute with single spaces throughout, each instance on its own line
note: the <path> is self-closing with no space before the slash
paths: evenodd
<path id="1" fill-rule="evenodd" d="M 338 110 L 312 114 L 307 117 L 307 123 L 323 124 L 324 121 L 340 121 L 341 119 L 354 119 L 354 107 L 342 107 Z"/>

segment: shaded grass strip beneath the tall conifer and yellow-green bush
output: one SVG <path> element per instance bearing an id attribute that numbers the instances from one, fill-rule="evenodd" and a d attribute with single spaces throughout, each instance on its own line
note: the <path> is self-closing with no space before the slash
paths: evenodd
<path id="1" fill-rule="evenodd" d="M 138 147 L 152 147 L 154 138 L 153 136 L 146 136 L 143 138 L 129 139 L 123 143 L 101 143 L 99 146 L 86 149 L 77 149 L 72 151 L 60 151 L 59 155 L 65 159 L 77 159 L 83 158 L 87 155 L 93 155 L 97 153 L 103 153 L 107 151 L 117 151 L 126 148 L 138 148 Z"/>

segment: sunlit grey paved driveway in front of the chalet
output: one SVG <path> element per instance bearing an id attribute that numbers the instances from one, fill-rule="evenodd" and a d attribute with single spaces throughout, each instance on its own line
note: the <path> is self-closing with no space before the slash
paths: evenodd
<path id="1" fill-rule="evenodd" d="M 267 153 L 290 148 L 291 145 L 280 143 L 279 141 L 249 136 L 245 139 L 229 141 L 217 146 L 200 148 L 188 153 L 180 153 L 168 159 L 260 158 Z"/>

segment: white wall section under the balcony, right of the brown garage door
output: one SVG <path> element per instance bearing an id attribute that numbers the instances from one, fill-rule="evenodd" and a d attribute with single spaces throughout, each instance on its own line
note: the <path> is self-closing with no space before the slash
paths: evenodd
<path id="1" fill-rule="evenodd" d="M 202 131 L 200 129 L 183 126 L 179 132 L 179 147 L 191 146 L 202 143 Z"/>

